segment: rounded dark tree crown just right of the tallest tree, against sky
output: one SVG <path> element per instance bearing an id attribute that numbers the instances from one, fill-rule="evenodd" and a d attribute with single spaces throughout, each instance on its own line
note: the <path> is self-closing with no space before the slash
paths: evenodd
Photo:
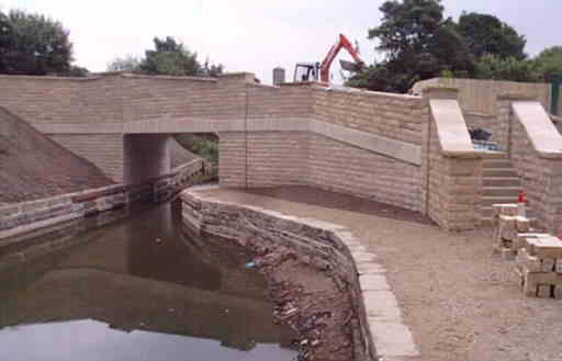
<path id="1" fill-rule="evenodd" d="M 522 60 L 527 57 L 525 36 L 494 15 L 464 12 L 459 18 L 458 29 L 476 58 L 486 54 L 502 59 L 514 57 Z"/>

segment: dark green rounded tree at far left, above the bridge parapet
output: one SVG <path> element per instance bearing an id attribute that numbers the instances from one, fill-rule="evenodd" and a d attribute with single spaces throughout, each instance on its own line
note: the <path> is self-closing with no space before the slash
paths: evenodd
<path id="1" fill-rule="evenodd" d="M 0 72 L 68 74 L 72 44 L 60 22 L 40 14 L 0 12 Z"/>

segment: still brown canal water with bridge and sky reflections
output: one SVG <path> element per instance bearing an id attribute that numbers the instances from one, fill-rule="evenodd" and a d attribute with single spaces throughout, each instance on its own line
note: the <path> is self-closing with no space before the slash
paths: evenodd
<path id="1" fill-rule="evenodd" d="M 178 201 L 4 242 L 0 360 L 295 360 L 250 260 L 190 236 Z"/>

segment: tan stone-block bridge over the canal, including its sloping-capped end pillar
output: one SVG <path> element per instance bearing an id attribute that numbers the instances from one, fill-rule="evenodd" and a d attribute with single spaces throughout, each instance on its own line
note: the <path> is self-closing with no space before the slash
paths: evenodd
<path id="1" fill-rule="evenodd" d="M 463 112 L 458 92 L 446 88 L 413 97 L 322 83 L 272 87 L 247 72 L 216 79 L 3 76 L 0 87 L 0 106 L 117 182 L 169 172 L 172 135 L 212 132 L 220 137 L 222 187 L 318 187 L 419 211 L 448 229 L 483 219 L 485 158 L 510 157 L 516 137 L 543 158 L 528 132 L 536 128 L 513 115 L 520 97 L 497 102 L 505 110 L 499 115 L 479 115 Z M 537 104 L 543 122 L 547 113 Z M 514 123 L 522 124 L 520 134 Z M 482 124 L 497 131 L 502 154 L 474 149 L 468 125 Z M 558 158 L 548 159 L 554 159 L 549 169 L 560 169 Z M 533 169 L 518 170 L 525 180 L 541 168 Z M 530 184 L 531 203 L 549 202 L 539 212 L 548 226 L 562 214 L 554 172 L 542 174 L 548 187 Z"/>

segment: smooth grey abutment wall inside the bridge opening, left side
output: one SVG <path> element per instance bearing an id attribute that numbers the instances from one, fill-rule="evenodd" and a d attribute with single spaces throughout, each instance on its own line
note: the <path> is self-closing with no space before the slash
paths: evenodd
<path id="1" fill-rule="evenodd" d="M 123 137 L 123 183 L 140 184 L 170 173 L 168 134 L 127 134 Z"/>

